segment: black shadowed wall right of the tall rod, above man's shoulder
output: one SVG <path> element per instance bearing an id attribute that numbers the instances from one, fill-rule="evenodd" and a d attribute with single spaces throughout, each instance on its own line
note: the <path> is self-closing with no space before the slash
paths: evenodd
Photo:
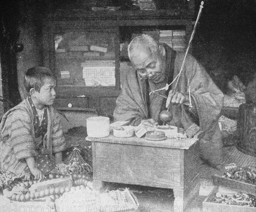
<path id="1" fill-rule="evenodd" d="M 256 73 L 256 1 L 204 0 L 199 22 L 193 54 L 222 91 L 234 75 L 247 85 Z"/>

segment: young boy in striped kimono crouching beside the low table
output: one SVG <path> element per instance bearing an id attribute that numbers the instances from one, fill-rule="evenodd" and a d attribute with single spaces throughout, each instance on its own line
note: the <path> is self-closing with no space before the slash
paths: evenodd
<path id="1" fill-rule="evenodd" d="M 49 69 L 33 67 L 26 72 L 24 85 L 29 96 L 7 111 L 0 123 L 0 166 L 26 180 L 31 174 L 42 180 L 53 167 L 52 153 L 55 163 L 62 163 L 66 144 L 52 107 L 56 80 Z"/>

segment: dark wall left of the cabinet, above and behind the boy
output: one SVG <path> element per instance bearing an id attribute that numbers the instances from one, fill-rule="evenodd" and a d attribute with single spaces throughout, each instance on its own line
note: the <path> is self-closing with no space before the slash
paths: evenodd
<path id="1" fill-rule="evenodd" d="M 42 20 L 52 4 L 50 0 L 2 0 L 0 4 L 3 96 L 17 105 L 26 97 L 24 73 L 33 66 L 43 65 Z M 10 107 L 6 103 L 4 110 Z"/>

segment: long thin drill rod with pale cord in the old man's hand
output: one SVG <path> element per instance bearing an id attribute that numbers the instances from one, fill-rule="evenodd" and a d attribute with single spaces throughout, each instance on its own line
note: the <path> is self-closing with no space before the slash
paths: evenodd
<path id="1" fill-rule="evenodd" d="M 203 5 L 204 5 L 204 2 L 202 1 L 202 2 L 201 2 L 201 5 L 200 5 L 199 12 L 198 12 L 198 17 L 197 17 L 197 19 L 196 19 L 196 21 L 195 21 L 194 29 L 193 29 L 192 34 L 191 34 L 190 39 L 189 39 L 189 44 L 188 44 L 188 46 L 187 46 L 184 59 L 183 59 L 182 65 L 181 65 L 181 67 L 180 67 L 180 72 L 177 74 L 177 76 L 175 77 L 175 79 L 174 79 L 170 84 L 166 84 L 166 86 L 163 87 L 163 88 L 160 88 L 160 89 L 151 91 L 151 92 L 149 93 L 149 95 L 151 95 L 152 93 L 157 94 L 157 93 L 155 93 L 155 92 L 156 92 L 156 91 L 159 91 L 159 90 L 168 90 L 168 89 L 169 89 L 169 86 L 172 85 L 172 84 L 175 82 L 175 80 L 177 79 L 177 82 L 176 82 L 175 88 L 174 88 L 174 92 L 172 93 L 172 97 L 171 97 L 171 101 L 172 101 L 172 98 L 173 98 L 173 96 L 175 95 L 175 92 L 176 92 L 176 89 L 177 89 L 178 81 L 179 81 L 179 79 L 180 79 L 180 74 L 181 74 L 181 72 L 183 71 L 183 67 L 184 67 L 184 65 L 185 65 L 186 56 L 187 56 L 187 54 L 188 54 L 188 52 L 189 52 L 189 46 L 190 46 L 190 44 L 191 44 L 191 42 L 192 42 L 192 39 L 193 39 L 193 37 L 194 37 L 194 35 L 195 35 L 195 29 L 196 29 L 198 20 L 199 20 L 199 18 L 200 18 L 200 16 L 201 16 L 201 12 L 202 12 L 202 9 L 203 9 Z M 189 87 L 189 90 L 190 90 L 190 87 Z M 158 96 L 161 96 L 160 94 L 157 94 L 157 95 L 158 95 Z M 170 104 L 170 105 L 171 105 L 171 104 Z M 169 105 L 169 106 L 170 106 L 170 105 Z"/>

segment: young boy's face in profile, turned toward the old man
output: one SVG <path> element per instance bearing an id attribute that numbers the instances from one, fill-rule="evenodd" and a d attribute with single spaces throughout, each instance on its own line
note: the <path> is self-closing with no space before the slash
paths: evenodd
<path id="1" fill-rule="evenodd" d="M 55 80 L 52 78 L 45 78 L 44 85 L 41 87 L 40 92 L 34 93 L 34 104 L 38 109 L 42 109 L 45 105 L 53 105 L 56 97 L 55 93 Z"/>

